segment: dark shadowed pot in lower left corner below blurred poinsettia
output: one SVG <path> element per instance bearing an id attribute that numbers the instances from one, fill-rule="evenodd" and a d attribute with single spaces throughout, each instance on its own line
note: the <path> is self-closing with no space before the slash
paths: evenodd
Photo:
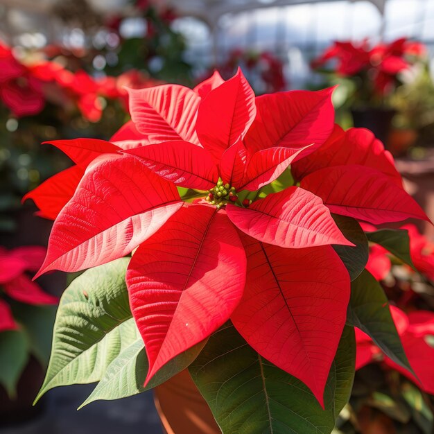
<path id="1" fill-rule="evenodd" d="M 44 370 L 31 357 L 17 385 L 17 397 L 9 399 L 6 390 L 0 387 L 0 427 L 21 424 L 35 419 L 46 410 L 44 399 L 33 407 L 33 400 L 44 381 Z"/>

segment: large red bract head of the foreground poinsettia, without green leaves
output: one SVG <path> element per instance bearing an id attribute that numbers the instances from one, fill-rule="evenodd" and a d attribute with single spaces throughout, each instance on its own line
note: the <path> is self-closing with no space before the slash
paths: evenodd
<path id="1" fill-rule="evenodd" d="M 331 89 L 255 98 L 238 71 L 193 90 L 129 93 L 132 121 L 112 143 L 54 143 L 81 180 L 60 212 L 51 209 L 58 216 L 38 275 L 137 248 L 126 280 L 149 359 L 146 381 L 231 319 L 322 403 L 349 301 L 349 275 L 331 245 L 351 243 L 330 211 L 371 223 L 426 218 L 393 162 L 365 130 L 334 127 Z M 334 161 L 322 148 L 339 148 L 341 139 L 348 146 Z M 301 186 L 252 203 L 238 198 L 290 164 Z M 177 187 L 203 197 L 183 202 Z M 50 194 L 54 188 L 51 181 Z"/>

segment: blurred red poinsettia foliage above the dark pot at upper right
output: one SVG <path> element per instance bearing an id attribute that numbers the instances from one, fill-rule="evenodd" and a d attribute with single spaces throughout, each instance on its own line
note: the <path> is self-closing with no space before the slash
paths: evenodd
<path id="1" fill-rule="evenodd" d="M 327 76 L 351 80 L 352 103 L 368 107 L 388 106 L 388 98 L 402 84 L 400 74 L 426 57 L 426 46 L 399 38 L 370 46 L 362 42 L 336 41 L 311 62 Z M 328 67 L 327 67 L 328 65 Z"/>

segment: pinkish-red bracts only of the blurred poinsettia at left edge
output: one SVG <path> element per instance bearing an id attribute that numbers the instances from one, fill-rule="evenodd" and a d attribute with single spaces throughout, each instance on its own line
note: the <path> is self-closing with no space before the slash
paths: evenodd
<path id="1" fill-rule="evenodd" d="M 45 248 L 28 245 L 13 250 L 0 248 L 0 286 L 4 293 L 26 304 L 57 304 L 58 299 L 44 293 L 35 282 L 26 275 L 26 271 L 35 272 L 44 261 Z M 0 298 L 0 331 L 17 328 L 8 304 Z"/>

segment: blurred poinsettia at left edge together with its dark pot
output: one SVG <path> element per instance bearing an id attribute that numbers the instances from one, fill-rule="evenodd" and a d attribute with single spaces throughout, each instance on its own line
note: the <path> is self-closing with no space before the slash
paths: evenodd
<path id="1" fill-rule="evenodd" d="M 24 422 L 40 409 L 31 404 L 50 354 L 51 331 L 58 298 L 31 281 L 46 249 L 0 248 L 0 420 Z"/>

